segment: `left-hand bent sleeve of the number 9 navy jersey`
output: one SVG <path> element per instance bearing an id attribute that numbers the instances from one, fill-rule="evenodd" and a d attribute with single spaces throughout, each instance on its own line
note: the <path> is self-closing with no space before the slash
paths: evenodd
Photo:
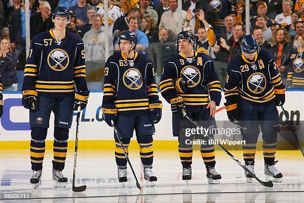
<path id="1" fill-rule="evenodd" d="M 176 71 L 177 70 L 174 67 L 173 62 L 166 62 L 160 77 L 160 82 L 159 82 L 160 93 L 168 103 L 170 103 L 170 100 L 177 97 L 172 82 L 173 79 L 177 77 Z"/>

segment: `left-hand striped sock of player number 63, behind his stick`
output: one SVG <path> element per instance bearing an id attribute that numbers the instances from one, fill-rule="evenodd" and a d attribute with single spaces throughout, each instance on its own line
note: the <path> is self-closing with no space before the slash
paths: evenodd
<path id="1" fill-rule="evenodd" d="M 129 154 L 129 144 L 130 144 L 131 138 L 121 138 L 121 142 L 124 145 L 124 148 L 126 150 L 126 153 Z M 121 145 L 118 141 L 118 139 L 115 139 L 115 160 L 116 164 L 120 169 L 124 169 L 127 167 L 127 158 L 124 154 L 124 150 L 121 148 Z"/>

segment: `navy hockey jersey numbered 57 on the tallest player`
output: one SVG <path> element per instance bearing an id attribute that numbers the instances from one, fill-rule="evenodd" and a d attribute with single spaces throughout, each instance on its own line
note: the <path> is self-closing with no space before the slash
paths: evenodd
<path id="1" fill-rule="evenodd" d="M 65 97 L 87 91 L 82 39 L 70 32 L 57 40 L 53 29 L 35 35 L 24 69 L 23 90 L 46 97 Z"/>

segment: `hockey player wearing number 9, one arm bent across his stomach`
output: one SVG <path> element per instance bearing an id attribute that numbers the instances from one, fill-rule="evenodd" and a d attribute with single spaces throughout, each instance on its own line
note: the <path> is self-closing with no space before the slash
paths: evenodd
<path id="1" fill-rule="evenodd" d="M 204 135 L 185 135 L 184 128 L 193 125 L 183 117 L 183 111 L 205 128 L 216 126 L 216 106 L 221 101 L 221 84 L 212 59 L 205 53 L 194 51 L 194 35 L 189 31 L 180 32 L 176 47 L 181 54 L 171 57 L 164 66 L 159 88 L 161 95 L 171 104 L 173 136 L 178 136 L 178 151 L 183 166 L 182 179 L 191 180 L 192 144 L 195 138 L 206 140 Z M 185 84 L 186 83 L 186 84 Z M 176 90 L 175 90 L 176 89 Z M 209 98 L 210 97 L 210 98 Z M 193 127 L 195 128 L 195 127 Z M 220 183 L 221 175 L 215 169 L 214 144 L 201 144 L 201 155 L 206 165 L 208 183 Z"/>

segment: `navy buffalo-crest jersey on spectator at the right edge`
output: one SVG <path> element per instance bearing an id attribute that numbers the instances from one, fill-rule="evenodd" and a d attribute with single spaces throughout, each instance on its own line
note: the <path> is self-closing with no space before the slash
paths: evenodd
<path id="1" fill-rule="evenodd" d="M 290 55 L 290 64 L 287 80 L 292 81 L 294 88 L 304 88 L 304 55 L 303 51 L 293 51 Z"/>

